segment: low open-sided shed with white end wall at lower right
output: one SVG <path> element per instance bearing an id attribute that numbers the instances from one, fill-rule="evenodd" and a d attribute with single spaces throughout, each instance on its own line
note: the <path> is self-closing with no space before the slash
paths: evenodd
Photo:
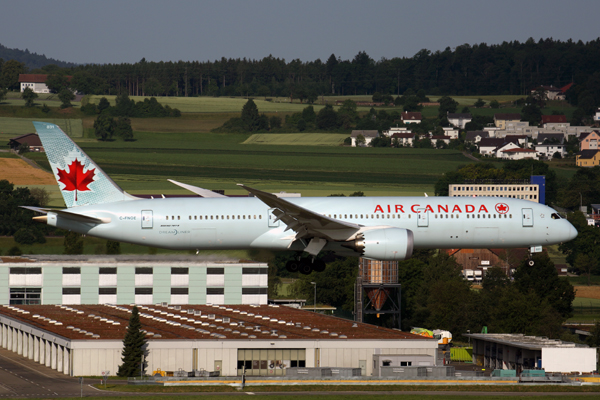
<path id="1" fill-rule="evenodd" d="M 596 349 L 583 344 L 514 333 L 466 334 L 473 344 L 473 364 L 491 369 L 544 369 L 546 372 L 591 373 Z"/>

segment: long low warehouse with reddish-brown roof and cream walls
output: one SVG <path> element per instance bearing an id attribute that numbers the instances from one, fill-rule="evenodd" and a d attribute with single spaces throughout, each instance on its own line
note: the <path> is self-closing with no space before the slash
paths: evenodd
<path id="1" fill-rule="evenodd" d="M 3 348 L 71 376 L 115 375 L 132 305 L 3 305 Z M 436 365 L 437 340 L 277 305 L 142 305 L 146 371 L 283 376 L 290 367 L 360 368 L 399 355 Z M 423 363 L 426 364 L 423 364 Z M 387 365 L 387 364 L 386 364 Z"/>

